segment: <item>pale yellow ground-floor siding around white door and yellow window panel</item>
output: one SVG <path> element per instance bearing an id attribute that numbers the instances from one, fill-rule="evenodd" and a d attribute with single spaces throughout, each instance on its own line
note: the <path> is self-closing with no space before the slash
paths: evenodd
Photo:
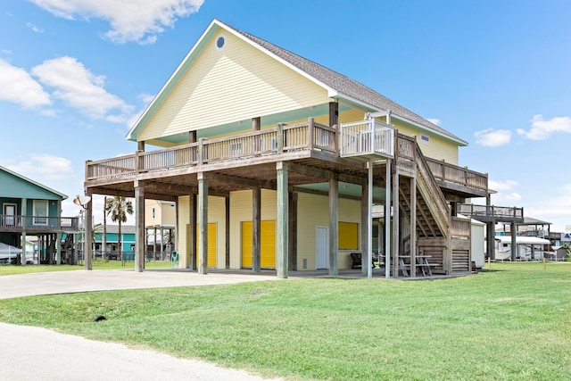
<path id="1" fill-rule="evenodd" d="M 339 221 L 357 223 L 360 226 L 360 201 L 339 199 Z M 303 260 L 307 269 L 316 269 L 316 229 L 329 226 L 329 199 L 327 196 L 300 193 L 298 195 L 297 217 L 297 269 L 303 270 Z M 352 250 L 339 250 L 339 269 L 351 269 L 349 253 Z"/>

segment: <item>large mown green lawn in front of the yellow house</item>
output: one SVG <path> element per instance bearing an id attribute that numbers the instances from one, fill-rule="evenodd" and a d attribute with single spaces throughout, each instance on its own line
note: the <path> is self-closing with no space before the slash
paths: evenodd
<path id="1" fill-rule="evenodd" d="M 571 379 L 567 263 L 27 297 L 0 320 L 293 379 Z"/>

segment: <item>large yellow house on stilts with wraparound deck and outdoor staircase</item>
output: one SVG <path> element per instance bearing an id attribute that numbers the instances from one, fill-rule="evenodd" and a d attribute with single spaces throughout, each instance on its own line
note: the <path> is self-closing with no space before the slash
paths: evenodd
<path id="1" fill-rule="evenodd" d="M 352 268 L 351 253 L 366 264 L 373 250 L 386 275 L 417 274 L 426 259 L 433 274 L 467 273 L 470 219 L 456 213 L 492 193 L 486 174 L 459 167 L 466 141 L 216 20 L 128 139 L 137 152 L 88 161 L 85 186 L 88 195 L 135 197 L 139 271 L 145 199 L 157 199 L 177 203 L 180 265 L 201 273 L 335 276 Z M 513 216 L 506 220 L 523 217 Z M 495 221 L 485 221 L 492 235 Z"/>

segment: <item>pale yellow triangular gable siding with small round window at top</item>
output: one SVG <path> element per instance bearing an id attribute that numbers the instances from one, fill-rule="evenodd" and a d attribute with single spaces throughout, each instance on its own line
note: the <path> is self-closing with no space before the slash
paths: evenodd
<path id="1" fill-rule="evenodd" d="M 330 101 L 324 88 L 240 38 L 225 36 L 221 50 L 215 47 L 218 35 L 207 42 L 138 140 Z"/>

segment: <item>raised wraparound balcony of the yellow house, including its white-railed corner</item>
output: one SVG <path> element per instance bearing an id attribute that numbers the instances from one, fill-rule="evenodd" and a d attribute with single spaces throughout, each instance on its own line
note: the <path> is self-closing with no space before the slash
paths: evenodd
<path id="1" fill-rule="evenodd" d="M 395 141 L 396 140 L 396 141 Z M 278 161 L 315 158 L 330 163 L 343 163 L 343 168 L 362 170 L 361 161 L 368 158 L 394 158 L 398 162 L 416 160 L 414 137 L 397 134 L 396 130 L 377 120 L 362 120 L 328 127 L 313 121 L 281 125 L 240 135 L 202 138 L 196 143 L 141 152 L 86 163 L 88 187 L 119 185 L 137 178 L 167 178 L 200 170 L 229 170 Z M 355 164 L 357 162 L 357 164 Z M 439 186 L 459 188 L 468 196 L 487 193 L 487 175 L 446 162 L 426 159 Z M 346 165 L 345 165 L 346 164 Z M 262 176 L 261 172 L 248 176 Z M 127 191 L 131 186 L 116 186 Z M 184 193 L 183 193 L 184 194 Z"/>

